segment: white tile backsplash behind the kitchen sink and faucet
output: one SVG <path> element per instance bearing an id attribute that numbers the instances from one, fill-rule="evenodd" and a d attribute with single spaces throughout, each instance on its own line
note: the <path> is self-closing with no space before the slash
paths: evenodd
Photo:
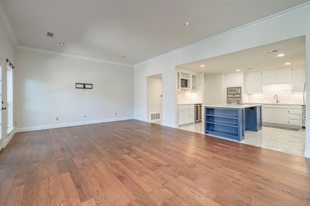
<path id="1" fill-rule="evenodd" d="M 263 94 L 248 94 L 248 103 L 276 103 L 275 94 L 279 103 L 304 104 L 302 93 L 292 93 L 292 84 L 263 85 Z"/>

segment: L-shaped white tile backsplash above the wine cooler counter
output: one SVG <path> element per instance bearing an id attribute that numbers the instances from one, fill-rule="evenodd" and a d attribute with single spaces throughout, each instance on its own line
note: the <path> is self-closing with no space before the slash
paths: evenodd
<path id="1" fill-rule="evenodd" d="M 182 89 L 178 91 L 178 104 L 203 103 L 203 73 L 197 74 L 197 91 Z"/>

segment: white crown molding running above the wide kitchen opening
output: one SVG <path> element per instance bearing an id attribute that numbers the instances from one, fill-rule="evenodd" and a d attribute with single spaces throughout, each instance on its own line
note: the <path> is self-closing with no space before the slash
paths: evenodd
<path id="1" fill-rule="evenodd" d="M 164 54 L 162 54 L 162 55 L 156 56 L 156 57 L 151 58 L 151 59 L 147 59 L 147 60 L 145 60 L 145 61 L 141 61 L 140 63 L 134 64 L 133 66 L 135 67 L 135 66 L 144 64 L 144 63 L 146 63 L 146 62 L 149 62 L 149 61 L 152 61 L 152 60 L 155 60 L 155 59 L 159 59 L 159 58 L 161 58 L 161 57 L 165 57 L 165 56 L 171 55 L 171 54 L 173 54 L 173 53 L 177 53 L 177 52 L 180 52 L 180 51 L 183 51 L 183 50 L 186 50 L 186 49 L 195 47 L 195 46 L 199 46 L 199 45 L 201 45 L 201 44 L 205 44 L 205 43 L 208 43 L 208 42 L 212 42 L 212 41 L 215 41 L 215 40 L 217 40 L 217 39 L 220 39 L 220 38 L 223 38 L 223 37 L 226 37 L 226 36 L 229 36 L 229 35 L 238 33 L 238 32 L 240 32 L 240 31 L 247 30 L 247 29 L 251 29 L 251 28 L 254 28 L 254 27 L 258 27 L 258 26 L 261 26 L 261 25 L 263 25 L 263 24 L 266 24 L 266 23 L 269 23 L 269 22 L 278 20 L 278 19 L 280 19 L 280 18 L 289 16 L 289 15 L 294 15 L 294 14 L 296 14 L 296 13 L 303 12 L 303 11 L 306 11 L 306 10 L 309 10 L 309 9 L 310 9 L 310 2 L 306 2 L 306 3 L 300 4 L 300 5 L 298 5 L 298 6 L 292 7 L 292 8 L 290 8 L 290 9 L 284 10 L 284 11 L 282 11 L 282 12 L 279 12 L 279 13 L 277 13 L 277 14 L 270 15 L 270 16 L 267 16 L 267 17 L 265 17 L 265 18 L 259 19 L 259 20 L 257 20 L 257 21 L 253 21 L 253 22 L 251 22 L 251 23 L 248 23 L 248 24 L 246 24 L 246 25 L 237 27 L 237 28 L 235 28 L 235 29 L 231 29 L 231 30 L 225 31 L 225 32 L 223 32 L 223 33 L 217 34 L 217 35 L 212 36 L 212 37 L 210 37 L 210 38 L 201 40 L 201 41 L 199 41 L 199 42 L 196 42 L 196 43 L 193 43 L 193 44 L 189 44 L 189 45 L 183 46 L 183 47 L 181 47 L 181 48 L 172 50 L 172 51 L 170 51 L 170 52 L 164 53 Z"/>

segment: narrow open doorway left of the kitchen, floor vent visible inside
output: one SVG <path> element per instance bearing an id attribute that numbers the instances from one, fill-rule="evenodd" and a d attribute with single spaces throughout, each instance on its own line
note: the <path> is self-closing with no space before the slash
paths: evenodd
<path id="1" fill-rule="evenodd" d="M 147 77 L 147 121 L 162 123 L 162 74 Z"/>

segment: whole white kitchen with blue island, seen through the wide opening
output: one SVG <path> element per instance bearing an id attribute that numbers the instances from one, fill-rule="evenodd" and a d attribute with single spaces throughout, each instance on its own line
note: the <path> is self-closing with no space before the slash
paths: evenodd
<path id="1" fill-rule="evenodd" d="M 299 37 L 264 45 L 262 48 L 254 48 L 253 51 L 240 51 L 241 54 L 228 54 L 226 57 L 195 62 L 195 67 L 200 67 L 195 72 L 188 65 L 179 66 L 176 71 L 186 72 L 185 69 L 189 69 L 187 73 L 199 74 L 201 79 L 197 78 L 196 81 L 201 82 L 199 85 L 201 88 L 198 87 L 198 84 L 196 91 L 190 87 L 188 90 L 182 88 L 185 85 L 182 85 L 180 75 L 180 87 L 177 87 L 178 111 L 183 105 L 188 104 L 190 107 L 191 104 L 202 103 L 203 115 L 202 122 L 189 121 L 179 124 L 178 128 L 303 156 L 306 121 L 305 60 L 304 56 L 302 59 L 302 55 L 300 55 L 300 59 L 281 57 L 289 56 L 288 48 L 292 51 L 298 50 L 300 53 L 300 50 L 304 51 L 304 47 L 304 38 Z M 210 67 L 214 65 L 212 61 L 221 64 L 218 62 L 223 62 L 225 58 L 238 59 L 236 55 L 254 54 L 257 51 L 260 53 L 265 51 L 261 55 L 264 61 L 259 56 L 256 56 L 254 60 L 259 59 L 266 63 L 265 65 L 257 62 L 258 66 L 254 67 L 253 64 L 246 63 L 247 66 L 244 66 L 243 69 L 238 65 L 233 70 L 222 69 L 222 72 L 217 67 L 217 71 L 221 73 L 213 70 L 213 74 L 207 72 L 202 74 L 202 69 L 208 64 Z M 221 60 L 219 61 L 219 59 Z M 254 60 L 252 59 L 252 61 Z M 273 63 L 273 60 L 280 60 L 280 63 Z M 227 62 L 227 64 L 233 65 L 231 60 L 227 60 Z M 192 67 L 194 66 L 192 65 Z M 176 82 L 178 82 L 178 77 Z M 201 92 L 198 93 L 198 90 Z M 192 113 L 190 111 L 189 108 L 188 114 L 192 114 L 192 118 L 195 119 L 195 110 L 193 109 Z M 234 114 L 232 116 L 235 117 L 231 118 L 230 114 L 227 115 L 227 111 Z M 252 116 L 248 115 L 248 111 L 255 114 L 255 117 L 253 116 L 256 118 L 255 121 Z M 241 121 L 239 125 L 235 120 L 238 117 L 244 117 L 239 119 L 239 122 Z M 257 131 L 248 130 L 249 121 L 252 128 L 254 130 L 256 128 Z"/>

